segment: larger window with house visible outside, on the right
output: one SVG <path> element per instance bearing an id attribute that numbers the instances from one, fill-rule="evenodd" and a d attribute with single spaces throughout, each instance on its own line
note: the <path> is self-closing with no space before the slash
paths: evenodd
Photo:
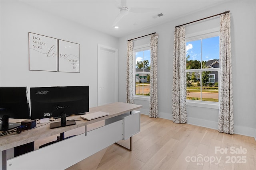
<path id="1" fill-rule="evenodd" d="M 219 36 L 186 39 L 187 100 L 218 102 Z"/>

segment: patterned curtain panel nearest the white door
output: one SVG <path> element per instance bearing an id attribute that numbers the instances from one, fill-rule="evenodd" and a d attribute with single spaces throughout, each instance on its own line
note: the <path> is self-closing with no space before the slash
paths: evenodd
<path id="1" fill-rule="evenodd" d="M 127 43 L 127 68 L 126 68 L 126 102 L 134 104 L 133 100 L 133 81 L 134 81 L 134 62 L 133 62 L 133 41 Z"/>

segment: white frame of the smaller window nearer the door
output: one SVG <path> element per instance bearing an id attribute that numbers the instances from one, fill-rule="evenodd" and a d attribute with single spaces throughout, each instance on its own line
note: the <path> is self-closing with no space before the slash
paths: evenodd
<path id="1" fill-rule="evenodd" d="M 150 100 L 150 96 L 142 96 L 142 95 L 136 95 L 136 83 L 135 83 L 135 80 L 136 80 L 136 73 L 138 74 L 138 72 L 136 72 L 136 53 L 137 52 L 140 52 L 140 51 L 146 51 L 146 50 L 150 50 L 150 43 L 148 44 L 144 44 L 144 45 L 139 45 L 139 46 L 136 46 L 134 47 L 133 49 L 133 58 L 134 58 L 134 96 L 133 98 L 136 99 L 136 100 L 146 100 L 146 101 L 149 101 Z M 151 52 L 150 52 L 151 53 Z M 150 72 L 139 72 L 139 74 L 150 74 Z"/>

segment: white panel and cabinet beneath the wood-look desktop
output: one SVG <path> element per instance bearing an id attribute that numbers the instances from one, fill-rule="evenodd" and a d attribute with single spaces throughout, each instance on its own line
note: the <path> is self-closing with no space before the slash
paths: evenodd
<path id="1" fill-rule="evenodd" d="M 105 119 L 105 125 L 97 129 L 7 160 L 6 168 L 63 170 L 117 141 L 129 137 L 132 141 L 139 131 L 140 111 L 130 111 Z"/>

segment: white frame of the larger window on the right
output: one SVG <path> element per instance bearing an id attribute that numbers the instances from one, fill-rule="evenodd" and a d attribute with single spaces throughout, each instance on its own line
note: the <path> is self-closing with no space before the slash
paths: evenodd
<path id="1" fill-rule="evenodd" d="M 217 37 L 220 36 L 220 27 L 215 27 L 212 29 L 204 30 L 204 31 L 199 31 L 191 34 L 186 34 L 186 43 L 190 41 L 196 41 L 196 40 L 202 40 L 206 38 L 211 38 L 211 37 Z M 186 69 L 187 72 L 203 72 L 203 71 L 217 71 L 218 72 L 218 79 L 220 80 L 220 68 L 200 68 L 200 69 Z M 214 75 L 215 77 L 215 75 Z M 200 77 L 200 80 L 202 78 Z M 215 82 L 215 80 L 214 80 Z M 201 84 L 201 82 L 200 82 Z M 220 89 L 220 81 L 218 81 L 218 89 Z M 187 89 L 187 87 L 186 87 Z M 202 98 L 202 85 L 200 89 L 200 96 Z M 218 92 L 218 99 L 220 99 L 220 91 Z M 187 106 L 196 106 L 196 107 L 206 107 L 206 108 L 212 108 L 212 109 L 218 109 L 220 105 L 220 100 L 218 102 L 210 102 L 210 101 L 198 101 L 198 100 L 187 100 L 186 99 L 186 105 Z"/>

